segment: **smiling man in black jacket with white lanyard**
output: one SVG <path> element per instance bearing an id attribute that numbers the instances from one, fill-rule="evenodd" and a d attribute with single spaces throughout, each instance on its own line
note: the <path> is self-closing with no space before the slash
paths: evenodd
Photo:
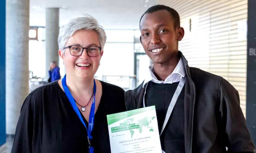
<path id="1" fill-rule="evenodd" d="M 144 82 L 125 93 L 127 110 L 156 106 L 166 153 L 255 152 L 238 91 L 220 76 L 188 66 L 177 11 L 156 5 L 140 19 L 141 44 L 153 61 Z"/>

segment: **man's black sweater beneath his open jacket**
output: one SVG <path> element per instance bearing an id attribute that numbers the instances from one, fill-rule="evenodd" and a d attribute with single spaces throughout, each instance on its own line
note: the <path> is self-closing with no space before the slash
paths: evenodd
<path id="1" fill-rule="evenodd" d="M 145 95 L 146 106 L 156 106 L 156 116 L 161 133 L 164 119 L 179 82 L 161 84 L 148 82 Z M 171 116 L 160 137 L 162 150 L 165 152 L 185 153 L 184 142 L 184 87 L 172 110 Z"/>

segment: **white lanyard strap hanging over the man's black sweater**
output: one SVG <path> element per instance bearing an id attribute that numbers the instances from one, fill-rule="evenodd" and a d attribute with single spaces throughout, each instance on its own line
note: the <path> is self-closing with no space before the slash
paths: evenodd
<path id="1" fill-rule="evenodd" d="M 178 97 L 180 96 L 180 93 L 182 91 L 182 88 L 184 87 L 184 84 L 185 84 L 185 77 L 182 77 L 180 82 L 179 82 L 179 84 L 178 84 L 178 86 L 177 86 L 177 88 L 176 88 L 176 90 L 175 90 L 174 95 L 172 96 L 172 100 L 171 100 L 171 102 L 169 104 L 169 107 L 168 107 L 168 110 L 167 110 L 167 113 L 166 113 L 166 116 L 165 116 L 165 119 L 164 119 L 164 124 L 162 126 L 162 130 L 161 130 L 161 133 L 160 133 L 160 136 L 161 136 L 162 132 L 164 131 L 164 128 L 165 128 L 165 126 L 166 126 L 166 124 L 167 124 L 167 122 L 168 122 L 168 120 L 169 120 L 169 118 L 171 116 L 172 110 L 173 110 L 173 108 L 174 108 L 174 106 L 175 106 L 175 104 L 177 102 Z M 144 93 L 144 97 L 143 97 L 143 107 L 145 107 L 145 95 L 146 95 L 147 87 L 148 87 L 148 83 L 147 83 L 147 85 L 145 87 L 145 93 Z"/>

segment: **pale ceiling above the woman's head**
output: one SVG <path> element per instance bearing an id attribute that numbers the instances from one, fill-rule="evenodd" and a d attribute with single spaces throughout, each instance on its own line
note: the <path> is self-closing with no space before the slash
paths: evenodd
<path id="1" fill-rule="evenodd" d="M 105 29 L 139 29 L 141 15 L 156 0 L 30 0 L 30 26 L 45 26 L 45 9 L 60 8 L 59 24 L 88 13 Z"/>

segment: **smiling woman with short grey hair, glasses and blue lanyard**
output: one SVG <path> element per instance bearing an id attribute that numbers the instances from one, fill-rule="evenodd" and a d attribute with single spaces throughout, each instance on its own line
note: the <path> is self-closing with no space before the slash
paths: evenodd
<path id="1" fill-rule="evenodd" d="M 123 89 L 94 79 L 105 41 L 103 28 L 89 15 L 62 28 L 59 55 L 66 75 L 25 99 L 13 153 L 110 152 L 106 115 L 125 111 L 125 105 Z"/>

